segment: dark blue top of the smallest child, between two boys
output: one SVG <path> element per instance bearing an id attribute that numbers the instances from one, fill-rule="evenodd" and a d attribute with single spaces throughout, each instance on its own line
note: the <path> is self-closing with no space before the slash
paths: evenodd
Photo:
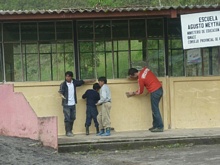
<path id="1" fill-rule="evenodd" d="M 88 89 L 83 95 L 83 99 L 86 99 L 86 105 L 96 107 L 96 103 L 99 101 L 100 96 L 94 89 Z"/>

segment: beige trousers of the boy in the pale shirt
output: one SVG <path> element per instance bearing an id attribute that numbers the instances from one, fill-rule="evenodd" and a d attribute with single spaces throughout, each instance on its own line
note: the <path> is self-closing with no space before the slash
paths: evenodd
<path id="1" fill-rule="evenodd" d="M 98 122 L 99 122 L 99 129 L 105 129 L 111 127 L 110 121 L 110 109 L 111 109 L 111 102 L 106 102 L 102 104 L 101 111 L 98 114 Z"/>

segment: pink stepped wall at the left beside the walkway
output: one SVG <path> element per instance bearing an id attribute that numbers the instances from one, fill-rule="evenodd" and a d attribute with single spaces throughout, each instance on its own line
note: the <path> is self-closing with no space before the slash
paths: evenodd
<path id="1" fill-rule="evenodd" d="M 40 140 L 57 149 L 57 117 L 38 118 L 24 95 L 14 92 L 13 85 L 0 85 L 0 135 Z"/>

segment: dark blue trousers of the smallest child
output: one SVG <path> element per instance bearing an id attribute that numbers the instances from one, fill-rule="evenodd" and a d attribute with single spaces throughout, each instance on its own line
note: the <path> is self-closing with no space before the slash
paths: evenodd
<path id="1" fill-rule="evenodd" d="M 95 127 L 99 126 L 99 123 L 97 121 L 97 115 L 98 115 L 98 110 L 94 106 L 86 106 L 86 124 L 85 126 L 89 127 L 91 125 L 91 121 L 93 119 L 95 123 Z"/>

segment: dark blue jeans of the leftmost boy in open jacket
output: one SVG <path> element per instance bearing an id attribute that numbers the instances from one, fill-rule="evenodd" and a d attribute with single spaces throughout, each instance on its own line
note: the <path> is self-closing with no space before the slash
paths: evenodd
<path id="1" fill-rule="evenodd" d="M 73 123 L 76 119 L 76 106 L 63 106 L 64 123 L 66 132 L 72 132 Z"/>

